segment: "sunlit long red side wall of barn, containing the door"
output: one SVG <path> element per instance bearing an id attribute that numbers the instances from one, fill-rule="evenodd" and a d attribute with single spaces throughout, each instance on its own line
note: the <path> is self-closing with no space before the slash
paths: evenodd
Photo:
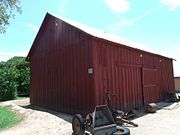
<path id="1" fill-rule="evenodd" d="M 96 104 L 107 103 L 128 110 L 163 100 L 174 90 L 172 60 L 94 38 L 93 65 Z"/>

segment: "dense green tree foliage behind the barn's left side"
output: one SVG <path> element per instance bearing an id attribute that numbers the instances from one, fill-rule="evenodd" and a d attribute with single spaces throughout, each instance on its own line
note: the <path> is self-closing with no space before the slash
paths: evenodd
<path id="1" fill-rule="evenodd" d="M 29 95 L 30 69 L 23 57 L 0 63 L 0 100 Z"/>

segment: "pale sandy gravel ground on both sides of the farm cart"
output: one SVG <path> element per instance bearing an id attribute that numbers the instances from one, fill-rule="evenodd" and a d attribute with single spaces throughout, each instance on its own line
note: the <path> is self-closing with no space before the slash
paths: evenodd
<path id="1" fill-rule="evenodd" d="M 1 102 L 2 105 L 12 105 L 26 117 L 17 126 L 1 131 L 1 135 L 72 135 L 70 115 L 32 107 L 29 99 Z M 158 103 L 159 110 L 154 114 L 138 111 L 139 118 L 133 122 L 139 127 L 125 126 L 131 135 L 180 135 L 179 106 L 179 103 Z"/>

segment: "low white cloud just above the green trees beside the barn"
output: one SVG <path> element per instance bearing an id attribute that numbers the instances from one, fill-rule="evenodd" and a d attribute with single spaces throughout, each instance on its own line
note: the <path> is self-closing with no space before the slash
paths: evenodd
<path id="1" fill-rule="evenodd" d="M 0 51 L 0 62 L 1 61 L 7 61 L 14 56 L 26 57 L 27 53 L 28 53 L 28 51 L 17 51 L 17 52 Z"/>

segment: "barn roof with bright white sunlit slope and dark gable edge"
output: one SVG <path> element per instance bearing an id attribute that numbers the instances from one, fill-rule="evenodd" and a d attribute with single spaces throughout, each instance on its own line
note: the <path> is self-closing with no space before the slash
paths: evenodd
<path id="1" fill-rule="evenodd" d="M 136 43 L 136 42 L 133 42 L 133 41 L 130 41 L 128 40 L 127 38 L 124 38 L 124 37 L 120 37 L 120 36 L 116 36 L 116 35 L 113 35 L 111 33 L 108 33 L 108 32 L 105 32 L 105 31 L 102 31 L 102 30 L 99 30 L 99 29 L 96 29 L 96 28 L 92 28 L 92 27 L 89 27 L 85 24 L 81 24 L 81 23 L 78 23 L 76 21 L 73 21 L 73 20 L 70 20 L 70 19 L 66 19 L 66 18 L 63 18 L 61 16 L 58 16 L 58 15 L 52 15 L 52 14 L 49 14 L 47 13 L 46 14 L 46 17 L 44 18 L 44 21 L 39 29 L 39 32 L 33 42 L 33 45 L 28 53 L 28 56 L 27 56 L 27 59 L 29 58 L 30 54 L 32 53 L 32 51 L 34 50 L 34 44 L 37 40 L 37 37 L 39 35 L 39 33 L 41 32 L 41 29 L 43 27 L 43 24 L 44 22 L 46 21 L 46 19 L 48 19 L 49 17 L 54 17 L 55 19 L 58 19 L 58 20 L 61 20 L 69 25 L 72 25 L 78 29 L 80 29 L 81 31 L 93 36 L 93 37 L 97 37 L 97 38 L 100 38 L 100 39 L 104 39 L 104 40 L 108 40 L 108 41 L 112 41 L 114 43 L 118 43 L 118 44 L 121 44 L 121 45 L 125 45 L 125 46 L 129 46 L 129 47 L 132 47 L 132 48 L 135 48 L 135 49 L 138 49 L 138 50 L 142 50 L 142 51 L 146 51 L 148 53 L 152 53 L 152 54 L 155 54 L 155 55 L 159 55 L 157 52 L 149 49 L 148 47 L 146 47 L 145 45 L 143 44 L 140 44 L 140 43 Z M 162 56 L 162 57 L 165 57 L 163 55 L 159 55 L 159 56 Z M 168 57 L 165 57 L 165 58 L 168 58 Z M 172 58 L 170 58 L 172 59 Z"/>

